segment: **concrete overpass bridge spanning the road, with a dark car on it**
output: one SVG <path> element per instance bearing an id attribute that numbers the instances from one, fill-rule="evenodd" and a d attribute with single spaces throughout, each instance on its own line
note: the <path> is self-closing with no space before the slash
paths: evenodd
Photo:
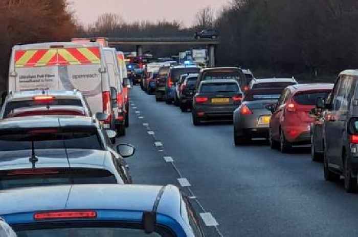
<path id="1" fill-rule="evenodd" d="M 145 37 L 145 38 L 108 38 L 109 46 L 135 45 L 137 55 L 143 54 L 143 45 L 206 45 L 209 54 L 209 66 L 215 66 L 215 47 L 219 44 L 218 40 L 200 39 L 193 37 Z"/>

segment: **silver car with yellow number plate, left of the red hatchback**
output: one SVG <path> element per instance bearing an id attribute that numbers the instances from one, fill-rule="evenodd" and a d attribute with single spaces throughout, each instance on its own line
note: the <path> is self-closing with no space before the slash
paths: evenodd
<path id="1" fill-rule="evenodd" d="M 284 88 L 249 90 L 239 108 L 234 111 L 234 143 L 242 145 L 252 138 L 269 138 L 271 112 L 266 106 L 280 98 Z"/>

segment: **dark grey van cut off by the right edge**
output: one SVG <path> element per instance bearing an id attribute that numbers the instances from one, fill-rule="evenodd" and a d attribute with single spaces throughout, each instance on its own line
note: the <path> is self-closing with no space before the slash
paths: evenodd
<path id="1" fill-rule="evenodd" d="M 324 113 L 324 177 L 328 181 L 344 176 L 347 192 L 357 190 L 358 172 L 358 70 L 339 74 L 331 96 L 317 100 Z"/>

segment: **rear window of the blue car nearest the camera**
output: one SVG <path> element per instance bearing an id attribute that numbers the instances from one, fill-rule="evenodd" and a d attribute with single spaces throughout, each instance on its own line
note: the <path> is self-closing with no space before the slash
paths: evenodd
<path id="1" fill-rule="evenodd" d="M 103 223 L 103 221 L 102 221 Z M 14 226 L 17 237 L 174 237 L 171 231 L 162 227 L 155 227 L 155 232 L 145 233 L 143 229 L 131 227 L 127 223 L 125 227 L 119 227 L 120 224 L 105 225 L 99 222 L 88 221 L 79 224 L 71 223 L 71 227 L 61 224 L 42 224 L 39 226 L 27 228 Z"/>

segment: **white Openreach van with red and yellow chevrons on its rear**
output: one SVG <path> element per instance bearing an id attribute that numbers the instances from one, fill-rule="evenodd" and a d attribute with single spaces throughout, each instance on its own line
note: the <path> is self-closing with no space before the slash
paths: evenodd
<path id="1" fill-rule="evenodd" d="M 54 42 L 12 48 L 8 93 L 29 90 L 74 90 L 86 97 L 94 114 L 105 113 L 114 128 L 117 84 L 111 83 L 105 51 L 98 43 Z"/>

